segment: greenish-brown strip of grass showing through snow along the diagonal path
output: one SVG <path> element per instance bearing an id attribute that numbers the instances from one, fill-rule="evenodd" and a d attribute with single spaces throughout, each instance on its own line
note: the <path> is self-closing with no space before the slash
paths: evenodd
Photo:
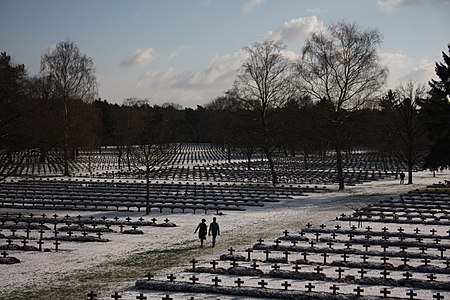
<path id="1" fill-rule="evenodd" d="M 157 274 L 166 269 L 174 267 L 188 267 L 189 261 L 193 258 L 202 259 L 214 255 L 226 253 L 230 246 L 234 248 L 251 245 L 258 238 L 271 241 L 281 235 L 283 230 L 302 228 L 306 223 L 318 225 L 326 222 L 327 211 L 336 209 L 336 205 L 327 204 L 321 208 L 316 207 L 314 212 L 301 215 L 299 218 L 290 220 L 271 220 L 266 223 L 255 223 L 251 228 L 240 228 L 239 232 L 223 232 L 218 237 L 215 248 L 199 247 L 199 241 L 187 241 L 177 243 L 173 248 L 161 251 L 148 251 L 133 254 L 121 259 L 116 259 L 99 264 L 82 271 L 67 274 L 57 281 L 44 285 L 31 286 L 26 289 L 17 289 L 0 295 L 2 300 L 80 300 L 87 299 L 87 293 L 94 291 L 99 297 L 106 297 L 130 286 L 138 279 L 145 277 L 147 273 Z M 348 210 L 345 206 L 340 206 L 341 210 Z M 336 210 L 336 215 L 339 214 Z"/>

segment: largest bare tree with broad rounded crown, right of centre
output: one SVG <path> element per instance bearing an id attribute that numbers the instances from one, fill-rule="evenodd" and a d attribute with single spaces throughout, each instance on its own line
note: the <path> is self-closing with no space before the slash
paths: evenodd
<path id="1" fill-rule="evenodd" d="M 325 101 L 329 111 L 339 190 L 344 189 L 342 124 L 349 111 L 375 99 L 387 78 L 388 70 L 381 66 L 377 54 L 381 40 L 377 30 L 362 30 L 355 23 L 337 23 L 327 31 L 312 33 L 295 64 L 297 86 L 314 99 Z"/>

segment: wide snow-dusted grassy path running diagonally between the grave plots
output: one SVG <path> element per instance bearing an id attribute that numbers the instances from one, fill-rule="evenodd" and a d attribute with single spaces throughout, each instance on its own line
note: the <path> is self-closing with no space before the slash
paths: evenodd
<path id="1" fill-rule="evenodd" d="M 446 172 L 438 176 L 443 180 L 448 179 L 449 174 Z M 205 248 L 200 248 L 197 235 L 193 234 L 200 219 L 205 217 L 209 223 L 212 214 L 152 213 L 149 218 L 156 217 L 162 220 L 168 217 L 178 227 L 152 229 L 160 231 L 146 232 L 139 238 L 130 237 L 126 242 L 123 238 L 116 241 L 112 238 L 106 248 L 83 245 L 83 254 L 75 250 L 58 253 L 67 255 L 67 264 L 59 266 L 56 271 L 45 270 L 49 262 L 42 257 L 39 260 L 37 255 L 28 256 L 26 259 L 36 257 L 37 261 L 30 264 L 33 269 L 23 270 L 23 267 L 21 269 L 22 263 L 2 267 L 10 268 L 10 274 L 6 271 L 0 276 L 10 275 L 13 283 L 6 285 L 8 288 L 6 291 L 0 291 L 0 298 L 78 300 L 85 299 L 90 291 L 94 291 L 99 297 L 109 298 L 114 291 L 133 286 L 136 280 L 145 278 L 148 273 L 155 275 L 176 273 L 177 270 L 189 268 L 189 262 L 194 258 L 216 259 L 226 253 L 229 247 L 245 249 L 259 238 L 271 241 L 280 236 L 284 230 L 294 232 L 304 228 L 307 223 L 316 226 L 332 223 L 341 213 L 350 213 L 369 202 L 386 199 L 390 195 L 398 195 L 416 188 L 422 189 L 428 184 L 437 182 L 439 178 L 432 178 L 429 172 L 419 172 L 415 174 L 414 185 L 399 185 L 397 180 L 377 181 L 348 187 L 343 192 L 332 190 L 320 194 L 312 193 L 307 197 L 270 203 L 261 208 L 224 212 L 224 215 L 217 216 L 222 232 L 215 248 L 210 247 L 210 239 L 207 239 Z M 60 213 L 74 214 L 73 211 Z M 132 217 L 138 218 L 142 215 L 143 213 L 135 212 Z M 98 251 L 103 253 L 97 253 Z M 70 259 L 75 252 L 78 253 L 77 259 Z M 95 256 L 92 256 L 91 252 L 95 252 Z M 32 281 L 26 279 L 29 277 L 21 277 L 25 272 L 34 273 Z"/>

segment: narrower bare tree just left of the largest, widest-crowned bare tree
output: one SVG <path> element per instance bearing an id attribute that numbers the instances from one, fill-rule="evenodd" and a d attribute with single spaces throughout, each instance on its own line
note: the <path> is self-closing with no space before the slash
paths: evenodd
<path id="1" fill-rule="evenodd" d="M 259 114 L 261 148 L 267 157 L 273 184 L 278 183 L 278 179 L 273 163 L 276 143 L 270 130 L 270 115 L 289 99 L 290 91 L 290 62 L 283 56 L 283 49 L 283 43 L 274 40 L 245 47 L 247 58 L 234 84 L 237 97 Z"/>

